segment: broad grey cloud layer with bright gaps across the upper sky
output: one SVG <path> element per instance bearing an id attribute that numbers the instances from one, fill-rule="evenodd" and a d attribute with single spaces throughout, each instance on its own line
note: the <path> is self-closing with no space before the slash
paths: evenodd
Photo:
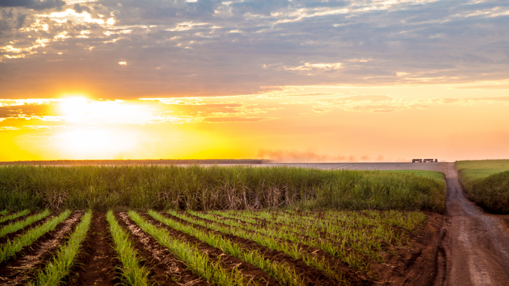
<path id="1" fill-rule="evenodd" d="M 509 75 L 501 0 L 1 3 L 12 7 L 0 13 L 0 84 L 11 97 L 55 94 L 57 77 L 58 91 L 133 99 Z M 65 11 L 30 10 L 43 7 Z"/>

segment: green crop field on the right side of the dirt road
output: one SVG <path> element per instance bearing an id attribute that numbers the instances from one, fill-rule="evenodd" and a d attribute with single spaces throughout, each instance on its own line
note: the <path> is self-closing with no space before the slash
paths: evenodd
<path id="1" fill-rule="evenodd" d="M 457 161 L 468 196 L 495 213 L 509 213 L 509 160 Z"/>

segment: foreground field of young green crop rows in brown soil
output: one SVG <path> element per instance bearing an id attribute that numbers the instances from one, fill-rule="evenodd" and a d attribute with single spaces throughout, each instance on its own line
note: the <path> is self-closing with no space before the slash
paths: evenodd
<path id="1" fill-rule="evenodd" d="M 91 281 L 105 285 L 371 284 L 376 273 L 370 262 L 384 262 L 388 246 L 403 246 L 404 237 L 423 222 L 411 212 L 27 214 L 11 215 L 0 230 L 7 237 L 0 245 L 0 278 L 33 285 L 76 285 L 80 275 L 93 278 L 97 271 L 90 270 L 89 258 L 96 250 L 83 246 L 98 243 L 92 237 L 108 239 L 104 245 L 115 256 L 101 250 L 102 262 L 100 255 L 94 258 L 97 267 L 117 277 Z M 31 268 L 18 271 L 27 262 Z"/>

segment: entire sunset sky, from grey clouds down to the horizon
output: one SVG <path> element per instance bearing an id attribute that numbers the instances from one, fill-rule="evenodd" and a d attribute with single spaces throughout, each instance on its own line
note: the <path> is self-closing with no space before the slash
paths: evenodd
<path id="1" fill-rule="evenodd" d="M 0 161 L 509 158 L 509 2 L 0 0 Z"/>

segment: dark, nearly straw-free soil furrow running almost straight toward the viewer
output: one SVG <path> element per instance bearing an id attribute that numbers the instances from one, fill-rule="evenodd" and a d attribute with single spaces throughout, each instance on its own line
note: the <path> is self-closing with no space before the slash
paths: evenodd
<path id="1" fill-rule="evenodd" d="M 116 267 L 113 241 L 108 231 L 105 213 L 94 212 L 87 237 L 83 241 L 80 253 L 67 278 L 67 286 L 115 286 L 120 284 Z"/>

